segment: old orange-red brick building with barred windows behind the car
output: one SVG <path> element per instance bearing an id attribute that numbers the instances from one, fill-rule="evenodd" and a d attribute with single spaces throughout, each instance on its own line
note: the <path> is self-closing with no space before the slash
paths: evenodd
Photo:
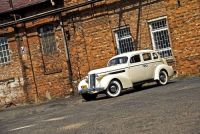
<path id="1" fill-rule="evenodd" d="M 69 95 L 110 57 L 154 49 L 200 73 L 199 0 L 0 0 L 0 105 Z"/>

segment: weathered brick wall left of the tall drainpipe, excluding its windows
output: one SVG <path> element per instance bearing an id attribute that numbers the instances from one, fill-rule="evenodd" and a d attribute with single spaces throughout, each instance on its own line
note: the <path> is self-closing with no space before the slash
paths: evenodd
<path id="1" fill-rule="evenodd" d="M 8 31 L 8 39 L 12 60 L 0 67 L 0 81 L 6 80 L 0 84 L 0 105 L 44 101 L 71 94 L 63 36 L 57 19 L 58 17 L 53 16 L 18 25 L 21 40 L 19 49 L 24 48 L 21 55 L 18 53 L 21 50 L 18 51 L 14 31 L 9 28 L 11 30 Z M 43 55 L 41 50 L 38 28 L 44 24 L 54 25 L 57 51 L 50 56 Z M 7 34 L 4 32 L 3 35 Z M 7 79 L 14 79 L 14 82 L 9 84 Z"/>

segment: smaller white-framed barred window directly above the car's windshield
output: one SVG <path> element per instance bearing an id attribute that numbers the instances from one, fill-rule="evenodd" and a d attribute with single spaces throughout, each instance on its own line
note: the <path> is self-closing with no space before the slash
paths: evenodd
<path id="1" fill-rule="evenodd" d="M 115 31 L 118 53 L 126 53 L 135 50 L 130 28 L 119 28 Z"/>

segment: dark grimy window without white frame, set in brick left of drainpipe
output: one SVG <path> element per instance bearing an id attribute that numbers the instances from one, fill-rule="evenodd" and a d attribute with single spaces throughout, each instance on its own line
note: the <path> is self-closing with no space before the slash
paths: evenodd
<path id="1" fill-rule="evenodd" d="M 56 39 L 53 31 L 53 25 L 44 25 L 39 28 L 40 41 L 43 54 L 52 54 L 56 48 Z"/>

